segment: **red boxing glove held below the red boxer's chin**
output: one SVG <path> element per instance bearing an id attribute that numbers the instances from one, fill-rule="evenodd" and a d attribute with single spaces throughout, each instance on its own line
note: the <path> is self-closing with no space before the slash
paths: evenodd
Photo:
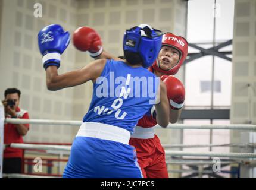
<path id="1" fill-rule="evenodd" d="M 161 80 L 166 84 L 167 97 L 170 101 L 171 109 L 181 109 L 185 100 L 185 88 L 182 82 L 176 77 L 167 75 L 163 75 Z"/>

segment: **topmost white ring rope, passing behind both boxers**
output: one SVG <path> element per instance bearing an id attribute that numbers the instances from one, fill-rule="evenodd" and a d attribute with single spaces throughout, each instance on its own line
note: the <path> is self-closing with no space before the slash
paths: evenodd
<path id="1" fill-rule="evenodd" d="M 82 121 L 75 120 L 53 120 L 53 119 L 13 119 L 6 118 L 5 122 L 10 124 L 48 124 L 48 125 L 76 125 L 80 126 Z M 156 125 L 157 128 L 161 128 Z M 233 130 L 255 130 L 256 125 L 249 124 L 229 124 L 229 125 L 188 125 L 188 124 L 169 124 L 171 129 L 233 129 Z"/>

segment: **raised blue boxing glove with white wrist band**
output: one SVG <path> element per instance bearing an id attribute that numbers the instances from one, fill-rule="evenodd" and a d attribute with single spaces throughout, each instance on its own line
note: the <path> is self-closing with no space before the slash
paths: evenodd
<path id="1" fill-rule="evenodd" d="M 44 27 L 38 33 L 38 46 L 43 55 L 43 67 L 60 67 L 61 54 L 70 42 L 70 34 L 58 24 Z"/>

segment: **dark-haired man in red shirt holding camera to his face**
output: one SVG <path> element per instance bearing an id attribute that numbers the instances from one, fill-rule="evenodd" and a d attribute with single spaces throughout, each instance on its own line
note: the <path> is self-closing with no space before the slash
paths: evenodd
<path id="1" fill-rule="evenodd" d="M 5 118 L 29 119 L 29 113 L 18 107 L 20 103 L 20 90 L 8 88 L 5 90 L 5 100 L 2 101 L 5 108 Z M 23 143 L 22 136 L 29 131 L 29 124 L 5 124 L 4 125 L 4 150 L 3 173 L 21 173 L 21 158 L 23 150 L 8 147 L 11 143 Z"/>

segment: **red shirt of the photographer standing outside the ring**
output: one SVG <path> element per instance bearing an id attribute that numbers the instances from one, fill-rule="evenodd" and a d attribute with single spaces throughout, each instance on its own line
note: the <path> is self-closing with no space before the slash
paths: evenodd
<path id="1" fill-rule="evenodd" d="M 29 113 L 26 110 L 20 109 L 17 107 L 16 109 L 17 118 L 20 119 L 29 119 Z M 10 115 L 7 115 L 6 118 L 11 118 Z M 5 124 L 4 125 L 4 144 L 11 143 L 23 143 L 23 138 L 20 134 L 18 134 L 16 124 Z M 29 124 L 24 124 L 29 129 Z M 18 148 L 10 148 L 7 147 L 4 150 L 4 158 L 10 157 L 22 157 L 23 150 Z"/>

